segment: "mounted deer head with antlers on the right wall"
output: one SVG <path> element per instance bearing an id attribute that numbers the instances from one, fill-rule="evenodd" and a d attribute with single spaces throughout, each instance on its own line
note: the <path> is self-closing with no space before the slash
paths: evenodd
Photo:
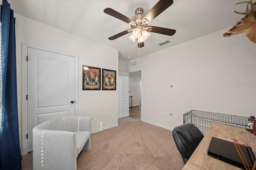
<path id="1" fill-rule="evenodd" d="M 256 43 L 256 2 L 253 4 L 252 0 L 239 2 L 237 4 L 248 3 L 246 12 L 236 12 L 236 14 L 245 15 L 240 21 L 234 25 L 228 32 L 224 33 L 224 37 L 229 37 L 231 35 L 236 35 L 240 33 L 245 33 L 245 35 L 250 39 L 250 41 Z M 236 5 L 237 5 L 236 4 Z M 251 8 L 248 9 L 250 4 Z"/>

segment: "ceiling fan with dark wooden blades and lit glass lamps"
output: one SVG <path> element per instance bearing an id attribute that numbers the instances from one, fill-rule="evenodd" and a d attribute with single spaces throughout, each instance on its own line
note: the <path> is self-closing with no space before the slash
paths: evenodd
<path id="1" fill-rule="evenodd" d="M 137 40 L 138 47 L 144 47 L 144 40 L 148 39 L 150 36 L 149 32 L 160 33 L 164 35 L 174 35 L 176 32 L 175 29 L 168 29 L 163 27 L 156 27 L 148 25 L 154 18 L 166 10 L 169 6 L 173 4 L 173 0 L 159 0 L 156 5 L 144 16 L 144 10 L 142 8 L 137 8 L 135 11 L 135 16 L 132 19 L 124 16 L 123 14 L 113 10 L 112 8 L 106 8 L 104 12 L 110 16 L 113 16 L 119 20 L 122 20 L 130 24 L 131 28 L 125 31 L 122 31 L 108 39 L 114 40 L 123 35 L 126 35 L 130 32 L 132 34 L 129 36 L 129 39 L 133 42 Z"/>

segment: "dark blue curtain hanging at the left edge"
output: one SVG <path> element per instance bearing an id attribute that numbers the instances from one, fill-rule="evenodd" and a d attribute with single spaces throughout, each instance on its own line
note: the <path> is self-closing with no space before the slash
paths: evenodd
<path id="1" fill-rule="evenodd" d="M 18 127 L 15 18 L 10 4 L 1 6 L 2 37 L 2 120 L 0 170 L 21 170 Z"/>

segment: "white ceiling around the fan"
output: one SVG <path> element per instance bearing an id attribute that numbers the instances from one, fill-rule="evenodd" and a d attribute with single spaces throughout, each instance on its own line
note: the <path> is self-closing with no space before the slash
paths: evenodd
<path id="1" fill-rule="evenodd" d="M 176 33 L 173 36 L 151 33 L 145 41 L 145 46 L 140 49 L 141 56 L 233 26 L 244 17 L 234 12 L 234 10 L 245 12 L 246 4 L 235 5 L 241 1 L 174 0 L 174 3 L 149 25 L 176 29 Z M 137 43 L 128 39 L 131 33 L 112 41 L 108 37 L 129 29 L 130 25 L 105 14 L 103 10 L 112 8 L 132 18 L 136 8 L 143 8 L 145 15 L 158 0 L 8 0 L 8 2 L 16 14 L 116 49 L 119 51 L 119 59 L 127 61 L 128 57 L 131 59 L 138 57 Z M 171 43 L 158 45 L 166 40 Z"/>

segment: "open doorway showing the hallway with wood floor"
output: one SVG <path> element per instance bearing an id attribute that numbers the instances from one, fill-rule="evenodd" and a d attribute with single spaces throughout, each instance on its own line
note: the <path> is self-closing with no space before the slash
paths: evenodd
<path id="1" fill-rule="evenodd" d="M 130 117 L 141 120 L 141 70 L 130 72 L 129 75 L 129 113 Z"/>

